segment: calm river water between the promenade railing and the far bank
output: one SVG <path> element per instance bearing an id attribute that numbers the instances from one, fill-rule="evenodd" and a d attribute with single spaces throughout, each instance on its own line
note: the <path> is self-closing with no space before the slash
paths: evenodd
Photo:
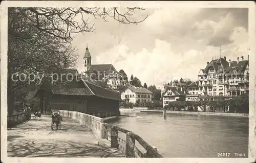
<path id="1" fill-rule="evenodd" d="M 121 114 L 137 117 L 121 117 L 113 124 L 135 132 L 163 157 L 218 157 L 222 152 L 248 157 L 246 117 L 167 113 L 164 119 L 162 113 Z"/>

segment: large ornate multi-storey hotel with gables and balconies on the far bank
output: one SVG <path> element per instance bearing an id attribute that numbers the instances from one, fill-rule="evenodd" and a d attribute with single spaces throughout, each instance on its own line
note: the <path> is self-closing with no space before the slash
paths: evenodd
<path id="1" fill-rule="evenodd" d="M 183 89 L 184 90 L 184 89 Z M 186 86 L 186 101 L 225 100 L 249 93 L 249 56 L 236 61 L 226 57 L 212 59 L 200 69 L 198 80 Z M 163 92 L 163 105 L 168 103 L 169 94 Z"/>

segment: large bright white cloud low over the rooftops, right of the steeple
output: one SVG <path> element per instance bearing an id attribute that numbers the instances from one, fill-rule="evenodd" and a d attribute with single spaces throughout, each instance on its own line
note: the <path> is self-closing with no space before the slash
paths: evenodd
<path id="1" fill-rule="evenodd" d="M 116 46 L 97 56 L 97 62 L 104 63 L 109 58 L 108 54 L 119 54 L 124 58 L 127 51 L 126 45 Z M 201 64 L 201 60 L 204 59 L 203 52 L 190 50 L 184 54 L 177 54 L 172 51 L 170 43 L 156 39 L 152 52 L 142 49 L 141 52 L 130 53 L 125 60 L 116 61 L 114 66 L 118 71 L 123 69 L 128 76 L 133 74 L 142 82 L 161 85 L 174 78 L 196 79 L 199 68 L 206 63 Z"/>

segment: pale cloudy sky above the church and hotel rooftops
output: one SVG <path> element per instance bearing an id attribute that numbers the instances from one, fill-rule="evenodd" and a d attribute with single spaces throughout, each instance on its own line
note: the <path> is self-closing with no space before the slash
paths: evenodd
<path id="1" fill-rule="evenodd" d="M 197 80 L 207 62 L 248 56 L 247 8 L 146 8 L 133 15 L 138 25 L 89 17 L 95 32 L 77 34 L 72 44 L 82 71 L 86 44 L 92 64 L 110 64 L 147 85 L 170 80 Z M 221 45 L 221 46 L 220 46 Z"/>

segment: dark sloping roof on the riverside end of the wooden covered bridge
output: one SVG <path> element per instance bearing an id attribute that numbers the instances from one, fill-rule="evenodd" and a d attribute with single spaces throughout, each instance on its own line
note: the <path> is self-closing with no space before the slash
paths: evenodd
<path id="1" fill-rule="evenodd" d="M 91 92 L 98 97 L 112 99 L 117 101 L 121 100 L 121 94 L 117 91 L 112 91 L 110 89 L 102 88 L 98 85 L 92 84 L 90 82 L 84 81 L 84 83 L 90 88 Z"/>

